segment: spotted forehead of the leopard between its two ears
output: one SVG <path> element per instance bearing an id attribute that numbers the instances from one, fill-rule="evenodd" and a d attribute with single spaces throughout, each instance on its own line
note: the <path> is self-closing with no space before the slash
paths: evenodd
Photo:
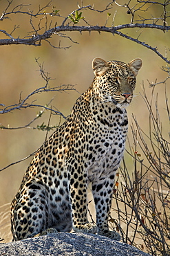
<path id="1" fill-rule="evenodd" d="M 110 60 L 109 62 L 109 72 L 113 73 L 113 75 L 127 77 L 128 75 L 133 75 L 129 65 L 125 62 L 119 62 L 116 60 Z"/>

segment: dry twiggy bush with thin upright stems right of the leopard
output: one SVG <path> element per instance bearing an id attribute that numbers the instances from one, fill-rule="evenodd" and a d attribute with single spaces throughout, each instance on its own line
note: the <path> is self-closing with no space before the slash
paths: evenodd
<path id="1" fill-rule="evenodd" d="M 152 96 L 154 95 L 154 88 Z M 134 118 L 128 154 L 134 159 L 132 175 L 125 161 L 120 167 L 114 192 L 116 200 L 116 228 L 123 241 L 146 250 L 151 255 L 170 255 L 170 154 L 169 140 L 164 138 L 164 125 L 160 120 L 158 102 L 149 101 L 149 131 L 145 133 Z M 168 99 L 167 120 L 169 123 Z M 123 226 L 123 223 L 126 225 Z M 121 227 L 124 228 L 121 228 Z"/>

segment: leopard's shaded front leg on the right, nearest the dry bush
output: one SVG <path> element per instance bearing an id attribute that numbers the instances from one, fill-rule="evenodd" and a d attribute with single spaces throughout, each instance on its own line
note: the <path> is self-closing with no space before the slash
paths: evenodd
<path id="1" fill-rule="evenodd" d="M 105 237 L 120 241 L 120 235 L 115 231 L 110 231 L 108 226 L 113 185 L 114 174 L 110 174 L 108 177 L 100 177 L 98 181 L 92 183 L 92 192 L 96 207 L 98 235 L 103 235 Z"/>

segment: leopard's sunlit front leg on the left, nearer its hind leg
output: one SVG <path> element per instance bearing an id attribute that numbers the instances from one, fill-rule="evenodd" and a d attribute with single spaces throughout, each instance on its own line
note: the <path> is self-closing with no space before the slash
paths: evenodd
<path id="1" fill-rule="evenodd" d="M 87 174 L 83 166 L 78 167 L 78 172 L 69 168 L 69 190 L 72 204 L 72 227 L 74 232 L 96 233 L 96 224 L 87 220 Z"/>

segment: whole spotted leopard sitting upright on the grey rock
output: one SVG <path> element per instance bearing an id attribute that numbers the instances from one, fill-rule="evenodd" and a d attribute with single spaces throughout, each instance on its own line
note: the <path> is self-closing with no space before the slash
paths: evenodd
<path id="1" fill-rule="evenodd" d="M 94 80 L 70 116 L 34 154 L 11 203 L 13 241 L 57 232 L 94 233 L 120 241 L 109 214 L 128 131 L 127 107 L 142 60 L 92 61 Z M 96 221 L 89 221 L 91 184 Z"/>

